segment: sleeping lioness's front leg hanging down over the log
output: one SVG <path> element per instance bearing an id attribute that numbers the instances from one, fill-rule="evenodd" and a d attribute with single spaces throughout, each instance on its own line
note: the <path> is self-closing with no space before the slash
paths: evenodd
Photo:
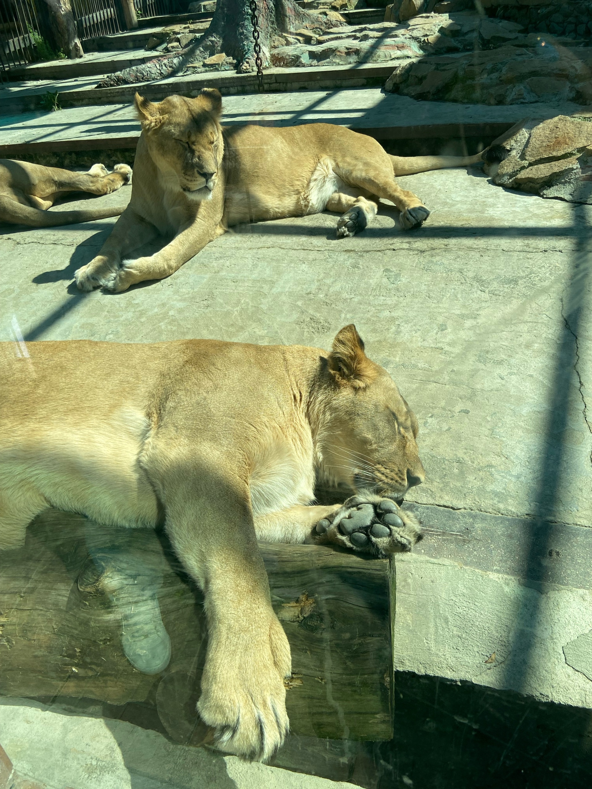
<path id="1" fill-rule="evenodd" d="M 208 651 L 197 710 L 220 750 L 267 760 L 289 728 L 290 645 L 272 609 L 248 489 L 216 477 L 177 469 L 162 486 L 167 533 L 204 589 Z"/>

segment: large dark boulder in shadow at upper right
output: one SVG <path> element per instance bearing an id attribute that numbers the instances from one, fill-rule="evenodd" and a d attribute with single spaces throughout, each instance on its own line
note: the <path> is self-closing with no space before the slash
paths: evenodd
<path id="1" fill-rule="evenodd" d="M 569 50 L 548 42 L 543 47 L 535 33 L 518 36 L 492 23 L 485 20 L 479 35 L 489 36 L 489 41 L 507 36 L 505 46 L 402 63 L 385 90 L 414 99 L 470 104 L 592 103 L 592 49 Z"/>

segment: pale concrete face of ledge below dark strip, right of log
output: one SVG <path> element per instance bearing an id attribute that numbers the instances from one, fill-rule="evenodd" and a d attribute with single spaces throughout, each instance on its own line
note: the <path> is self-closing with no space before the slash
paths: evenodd
<path id="1" fill-rule="evenodd" d="M 540 591 L 421 551 L 396 559 L 396 578 L 395 671 L 592 709 L 590 589 Z"/>

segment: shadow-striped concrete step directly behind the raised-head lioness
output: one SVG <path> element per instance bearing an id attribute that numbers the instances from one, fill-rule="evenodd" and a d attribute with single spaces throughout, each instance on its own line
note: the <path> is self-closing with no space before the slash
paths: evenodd
<path id="1" fill-rule="evenodd" d="M 541 103 L 529 109 L 533 117 L 552 118 L 556 114 L 572 114 L 577 107 L 572 103 Z M 380 88 L 357 88 L 228 95 L 223 99 L 222 120 L 224 125 L 333 123 L 369 134 L 389 150 L 398 146 L 399 153 L 407 152 L 410 144 L 417 146 L 418 140 L 426 140 L 425 149 L 411 152 L 437 153 L 444 148 L 451 152 L 450 140 L 466 140 L 473 148 L 479 142 L 489 144 L 523 117 L 521 104 L 489 107 L 423 102 L 402 95 L 385 95 Z M 0 158 L 85 166 L 84 152 L 89 152 L 91 158 L 96 155 L 96 161 L 107 161 L 111 155 L 122 161 L 122 151 L 126 151 L 131 163 L 140 132 L 130 104 L 75 107 L 47 113 L 42 118 L 6 118 L 0 127 Z M 457 144 L 457 148 L 457 152 L 463 152 L 462 144 Z"/>

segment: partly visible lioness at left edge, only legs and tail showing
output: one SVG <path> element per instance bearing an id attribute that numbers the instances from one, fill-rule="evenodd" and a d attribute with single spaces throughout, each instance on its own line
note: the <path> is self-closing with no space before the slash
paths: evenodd
<path id="1" fill-rule="evenodd" d="M 0 222 L 54 227 L 118 216 L 123 208 L 116 206 L 51 212 L 47 208 L 72 192 L 111 194 L 129 183 L 131 177 L 132 168 L 127 164 L 116 164 L 112 173 L 103 164 L 93 164 L 88 173 L 73 173 L 59 167 L 0 159 Z"/>

